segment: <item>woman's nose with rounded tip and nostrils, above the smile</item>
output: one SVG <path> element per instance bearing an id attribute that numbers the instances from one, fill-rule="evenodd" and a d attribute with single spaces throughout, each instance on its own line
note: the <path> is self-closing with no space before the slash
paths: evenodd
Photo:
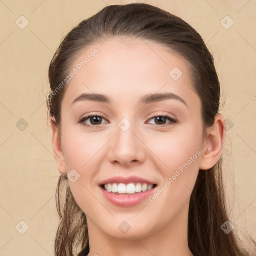
<path id="1" fill-rule="evenodd" d="M 113 164 L 123 166 L 134 166 L 140 164 L 145 159 L 145 148 L 143 139 L 135 131 L 134 125 L 125 130 L 121 125 L 116 127 L 116 134 L 111 139 L 108 159 Z"/>

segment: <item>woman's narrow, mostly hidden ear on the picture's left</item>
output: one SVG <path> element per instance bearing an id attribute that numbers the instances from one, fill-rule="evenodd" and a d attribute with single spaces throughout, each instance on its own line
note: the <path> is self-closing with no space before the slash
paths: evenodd
<path id="1" fill-rule="evenodd" d="M 57 123 L 54 117 L 50 118 L 50 125 L 52 130 L 52 146 L 54 151 L 54 157 L 58 165 L 59 172 L 65 174 L 66 167 L 64 161 L 64 155 L 61 148 L 61 138 L 58 135 Z"/>

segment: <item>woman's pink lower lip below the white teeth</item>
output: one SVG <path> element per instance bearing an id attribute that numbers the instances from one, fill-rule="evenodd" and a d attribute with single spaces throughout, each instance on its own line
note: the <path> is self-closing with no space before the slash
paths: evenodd
<path id="1" fill-rule="evenodd" d="M 155 191 L 156 187 L 145 192 L 140 192 L 135 194 L 125 194 L 125 195 L 107 192 L 101 186 L 100 186 L 100 189 L 102 190 L 102 193 L 104 194 L 106 199 L 108 199 L 108 201 L 110 201 L 114 205 L 120 206 L 120 207 L 131 207 L 139 204 L 140 202 L 148 198 Z"/>

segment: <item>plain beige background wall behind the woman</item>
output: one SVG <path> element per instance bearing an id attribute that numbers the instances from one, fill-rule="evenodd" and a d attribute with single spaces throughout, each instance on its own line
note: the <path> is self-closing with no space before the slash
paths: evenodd
<path id="1" fill-rule="evenodd" d="M 74 25 L 106 4 L 131 2 L 0 0 L 1 256 L 54 255 L 58 226 L 54 194 L 59 173 L 45 102 L 49 62 L 62 36 Z M 256 239 L 256 1 L 145 2 L 191 24 L 214 55 L 222 102 L 225 100 L 221 113 L 229 124 L 224 173 L 232 206 L 231 222 L 241 235 L 247 228 Z M 21 15 L 29 21 L 24 29 L 19 27 L 25 24 L 24 18 L 21 24 Z M 226 15 L 234 21 L 229 29 L 221 24 Z M 229 26 L 232 21 L 225 18 L 223 22 Z M 21 118 L 28 127 L 20 126 Z M 20 234 L 25 231 L 21 220 L 29 226 L 24 234 Z"/>

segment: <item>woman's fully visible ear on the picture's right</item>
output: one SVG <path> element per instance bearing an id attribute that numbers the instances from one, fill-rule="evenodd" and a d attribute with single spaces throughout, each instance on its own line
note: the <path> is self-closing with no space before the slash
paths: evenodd
<path id="1" fill-rule="evenodd" d="M 219 160 L 225 140 L 225 120 L 221 114 L 216 114 L 214 124 L 207 128 L 200 169 L 207 170 L 212 168 Z"/>

